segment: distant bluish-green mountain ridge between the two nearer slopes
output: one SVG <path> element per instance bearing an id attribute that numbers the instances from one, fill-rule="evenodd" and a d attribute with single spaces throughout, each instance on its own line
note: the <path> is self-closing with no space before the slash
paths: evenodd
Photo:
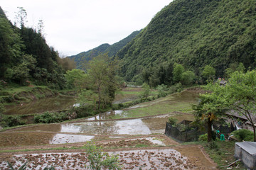
<path id="1" fill-rule="evenodd" d="M 133 38 L 138 35 L 140 30 L 134 31 L 132 34 L 127 36 L 127 38 L 124 38 L 123 40 L 120 40 L 119 42 L 114 43 L 113 45 L 109 44 L 102 44 L 99 47 L 95 47 L 92 50 L 89 50 L 87 52 L 80 52 L 78 55 L 70 56 L 70 59 L 73 59 L 76 64 L 77 68 L 82 68 L 82 63 L 88 60 L 91 60 L 93 57 L 96 57 L 97 55 L 100 55 L 101 53 L 108 53 L 109 57 L 112 57 L 117 54 L 119 50 L 122 49 L 125 45 L 127 45 L 128 42 L 130 42 Z"/>

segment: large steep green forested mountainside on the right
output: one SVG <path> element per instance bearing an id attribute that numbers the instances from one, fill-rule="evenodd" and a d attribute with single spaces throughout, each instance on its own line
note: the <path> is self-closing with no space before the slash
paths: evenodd
<path id="1" fill-rule="evenodd" d="M 256 66 L 255 0 L 174 0 L 117 56 L 121 76 L 139 79 L 145 68 L 175 62 L 201 74 L 203 67 L 223 76 L 230 64 Z"/>

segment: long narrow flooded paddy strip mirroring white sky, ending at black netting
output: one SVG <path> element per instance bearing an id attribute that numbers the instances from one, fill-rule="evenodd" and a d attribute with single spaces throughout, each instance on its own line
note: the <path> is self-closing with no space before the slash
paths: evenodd
<path id="1" fill-rule="evenodd" d="M 150 118 L 137 118 L 130 120 L 108 120 L 108 121 L 85 121 L 82 123 L 60 123 L 48 125 L 35 125 L 32 127 L 19 128 L 14 131 L 48 131 L 85 133 L 90 135 L 148 135 L 151 133 L 163 133 L 166 121 L 169 117 L 182 120 L 193 120 L 193 115 L 170 113 L 156 115 Z"/>

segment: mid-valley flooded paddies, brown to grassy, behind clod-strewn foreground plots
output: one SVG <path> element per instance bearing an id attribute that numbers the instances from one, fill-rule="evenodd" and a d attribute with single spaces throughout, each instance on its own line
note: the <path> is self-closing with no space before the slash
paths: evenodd
<path id="1" fill-rule="evenodd" d="M 181 99 L 182 96 L 184 97 L 183 101 Z M 79 120 L 79 122 L 52 123 L 16 128 L 0 133 L 0 147 L 86 142 L 93 140 L 97 135 L 164 134 L 166 121 L 170 117 L 176 118 L 178 123 L 182 120 L 193 120 L 193 115 L 190 113 L 170 113 L 169 109 L 177 106 L 177 100 L 180 101 L 178 104 L 186 103 L 190 105 L 195 103 L 197 96 L 198 94 L 194 92 L 185 91 L 166 98 L 141 103 L 124 111 L 100 113 L 91 118 Z M 169 105 L 160 112 L 165 114 L 156 113 L 152 109 L 156 106 L 163 106 L 163 104 Z M 186 110 L 187 107 L 183 105 L 181 108 Z M 129 118 L 132 111 L 135 112 L 135 115 L 133 118 Z M 114 119 L 117 117 L 118 119 Z"/>

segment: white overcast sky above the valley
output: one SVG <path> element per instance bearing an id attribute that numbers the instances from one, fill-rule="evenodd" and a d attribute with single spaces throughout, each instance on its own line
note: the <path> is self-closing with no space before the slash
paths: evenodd
<path id="1" fill-rule="evenodd" d="M 14 23 L 18 6 L 26 9 L 27 27 L 43 20 L 46 41 L 60 55 L 77 55 L 103 43 L 112 45 L 140 30 L 172 0 L 0 0 Z"/>

